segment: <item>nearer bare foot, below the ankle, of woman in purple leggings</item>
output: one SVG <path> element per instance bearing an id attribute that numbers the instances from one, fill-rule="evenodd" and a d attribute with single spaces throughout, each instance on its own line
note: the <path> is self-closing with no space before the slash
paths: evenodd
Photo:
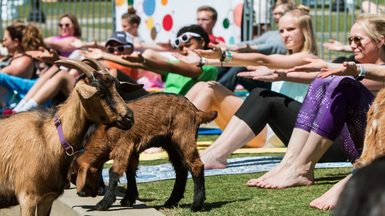
<path id="1" fill-rule="evenodd" d="M 259 187 L 275 189 L 295 186 L 307 186 L 313 183 L 313 170 L 303 170 L 289 166 L 285 169 L 282 169 L 281 172 L 276 173 L 273 177 L 260 182 Z"/>

